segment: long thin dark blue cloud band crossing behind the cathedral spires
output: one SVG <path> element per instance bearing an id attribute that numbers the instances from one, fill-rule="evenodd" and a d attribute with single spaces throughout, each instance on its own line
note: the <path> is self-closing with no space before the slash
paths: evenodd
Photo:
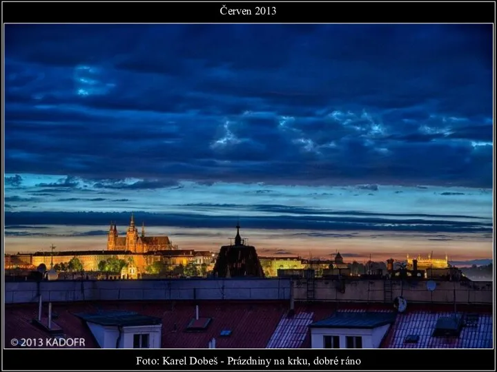
<path id="1" fill-rule="evenodd" d="M 117 221 L 118 225 L 127 225 L 129 212 L 99 213 L 99 212 L 11 212 L 6 211 L 8 225 L 66 225 L 68 221 L 74 225 L 106 225 L 109 220 Z M 147 225 L 173 227 L 233 227 L 236 223 L 233 216 L 206 216 L 192 213 L 162 213 L 151 214 L 139 212 L 136 220 L 146 220 Z M 458 232 L 483 233 L 491 232 L 491 223 L 462 222 L 439 219 L 398 219 L 375 217 L 344 217 L 344 216 L 246 216 L 243 225 L 257 229 L 316 229 L 335 231 L 413 231 L 426 233 Z"/>

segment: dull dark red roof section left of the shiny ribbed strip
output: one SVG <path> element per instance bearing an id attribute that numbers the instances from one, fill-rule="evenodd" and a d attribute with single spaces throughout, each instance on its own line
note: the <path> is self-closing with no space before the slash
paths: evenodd
<path id="1" fill-rule="evenodd" d="M 30 324 L 37 316 L 37 304 L 6 305 L 6 338 L 47 337 Z M 87 347 L 98 347 L 86 325 L 75 313 L 99 310 L 128 310 L 162 318 L 162 348 L 202 349 L 216 339 L 219 349 L 264 349 L 288 309 L 288 302 L 199 302 L 199 316 L 211 318 L 204 331 L 186 331 L 195 318 L 193 302 L 71 302 L 53 304 L 59 314 L 54 320 L 67 337 L 82 337 Z M 221 336 L 222 331 L 231 331 Z"/>

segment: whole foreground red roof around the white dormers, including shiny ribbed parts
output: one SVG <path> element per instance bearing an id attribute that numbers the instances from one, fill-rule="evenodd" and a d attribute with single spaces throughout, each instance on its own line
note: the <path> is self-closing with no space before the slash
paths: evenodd
<path id="1" fill-rule="evenodd" d="M 195 304 L 199 318 L 211 318 L 206 329 L 186 331 L 195 318 Z M 37 304 L 6 305 L 6 339 L 47 337 L 31 324 L 37 317 Z M 450 313 L 452 305 L 409 304 L 405 313 L 398 314 L 382 347 L 489 347 L 492 340 L 491 307 L 458 305 L 460 313 L 478 313 L 476 327 L 465 327 L 458 341 L 448 342 L 432 338 L 436 319 Z M 338 302 L 296 303 L 295 313 L 288 316 L 288 301 L 153 301 L 153 302 L 70 302 L 54 303 L 58 314 L 54 322 L 66 337 L 85 338 L 86 347 L 98 347 L 84 322 L 75 313 L 94 313 L 101 310 L 136 311 L 146 316 L 162 318 L 162 348 L 202 349 L 216 339 L 219 349 L 309 348 L 307 326 L 311 322 L 333 315 L 335 311 L 393 311 L 388 304 L 344 304 Z M 46 314 L 46 309 L 44 310 Z M 231 331 L 222 336 L 222 331 Z M 417 331 L 418 344 L 405 344 L 405 336 Z M 8 343 L 8 342 L 7 342 Z"/>

